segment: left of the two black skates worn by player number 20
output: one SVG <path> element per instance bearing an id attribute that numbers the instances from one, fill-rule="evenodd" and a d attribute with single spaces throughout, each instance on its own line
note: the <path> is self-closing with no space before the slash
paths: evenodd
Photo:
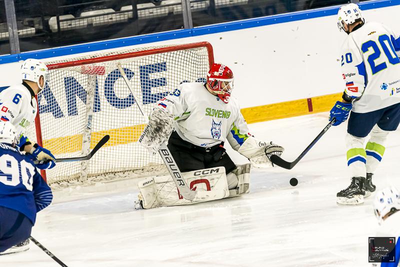
<path id="1" fill-rule="evenodd" d="M 364 202 L 364 177 L 352 177 L 350 185 L 336 194 L 336 202 L 344 205 L 356 205 Z"/>

